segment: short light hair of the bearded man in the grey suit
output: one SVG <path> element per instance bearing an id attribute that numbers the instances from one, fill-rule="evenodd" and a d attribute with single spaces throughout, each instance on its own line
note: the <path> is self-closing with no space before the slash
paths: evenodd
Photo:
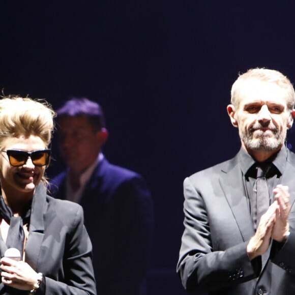
<path id="1" fill-rule="evenodd" d="M 247 79 L 257 79 L 262 82 L 276 83 L 278 86 L 285 89 L 287 93 L 286 102 L 288 109 L 292 110 L 294 108 L 295 92 L 293 84 L 281 72 L 264 68 L 250 69 L 246 73 L 240 75 L 232 84 L 230 101 L 235 107 L 239 106 L 240 91 L 243 87 L 243 83 L 245 83 Z"/>

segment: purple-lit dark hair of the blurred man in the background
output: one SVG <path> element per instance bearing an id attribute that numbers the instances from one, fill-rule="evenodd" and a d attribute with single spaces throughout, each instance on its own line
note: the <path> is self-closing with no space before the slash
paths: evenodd
<path id="1" fill-rule="evenodd" d="M 75 117 L 85 115 L 88 117 L 89 123 L 95 131 L 106 127 L 101 106 L 97 102 L 87 98 L 73 97 L 59 108 L 56 113 L 57 120 L 62 116 Z"/>

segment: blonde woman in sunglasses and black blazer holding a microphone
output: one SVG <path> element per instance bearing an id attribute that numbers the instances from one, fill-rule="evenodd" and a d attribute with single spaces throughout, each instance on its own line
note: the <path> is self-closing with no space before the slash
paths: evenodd
<path id="1" fill-rule="evenodd" d="M 1 294 L 96 294 L 82 208 L 46 194 L 54 116 L 45 101 L 0 100 Z"/>

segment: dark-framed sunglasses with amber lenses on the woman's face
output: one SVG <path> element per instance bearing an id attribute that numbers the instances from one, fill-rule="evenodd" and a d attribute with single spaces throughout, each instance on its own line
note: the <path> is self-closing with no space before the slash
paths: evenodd
<path id="1" fill-rule="evenodd" d="M 19 167 L 27 162 L 28 157 L 31 158 L 35 166 L 47 166 L 50 160 L 50 150 L 39 150 L 34 152 L 25 152 L 19 150 L 1 151 L 7 154 L 11 166 Z"/>

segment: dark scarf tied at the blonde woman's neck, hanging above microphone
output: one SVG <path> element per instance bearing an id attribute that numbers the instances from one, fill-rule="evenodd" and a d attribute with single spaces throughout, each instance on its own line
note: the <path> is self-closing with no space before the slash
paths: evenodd
<path id="1" fill-rule="evenodd" d="M 13 216 L 11 209 L 6 205 L 2 196 L 0 196 L 0 216 L 9 223 L 9 230 L 6 240 L 7 248 L 16 248 L 19 250 L 21 259 L 24 243 L 23 224 L 30 221 L 31 210 L 27 210 L 24 216 Z"/>

